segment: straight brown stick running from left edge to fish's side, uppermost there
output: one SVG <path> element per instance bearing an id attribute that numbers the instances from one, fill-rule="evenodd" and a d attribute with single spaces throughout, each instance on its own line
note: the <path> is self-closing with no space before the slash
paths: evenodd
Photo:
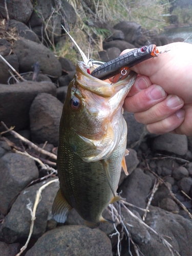
<path id="1" fill-rule="evenodd" d="M 6 125 L 3 121 L 2 121 L 1 123 L 3 124 L 3 126 L 5 127 L 5 129 L 6 129 L 7 131 L 10 130 L 10 129 L 7 127 L 7 125 Z M 57 159 L 57 156 L 56 156 L 55 154 L 50 153 L 50 152 L 48 152 L 48 151 L 46 151 L 46 150 L 42 150 L 42 148 L 38 147 L 38 146 L 35 145 L 33 142 L 31 142 L 30 140 L 24 138 L 22 135 L 18 134 L 17 132 L 12 131 L 12 130 L 9 131 L 9 132 L 10 132 L 15 138 L 18 138 L 18 139 L 22 140 L 23 142 L 25 142 L 25 143 L 28 144 L 29 146 L 33 147 L 36 151 L 40 152 L 41 154 L 44 154 L 44 155 L 46 155 L 46 156 L 48 156 L 48 157 L 50 157 L 50 158 L 52 158 L 52 159 L 54 159 L 54 160 Z"/>

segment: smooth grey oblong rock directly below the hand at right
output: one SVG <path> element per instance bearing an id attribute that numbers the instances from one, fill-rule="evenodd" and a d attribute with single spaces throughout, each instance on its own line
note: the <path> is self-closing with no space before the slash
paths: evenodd
<path id="1" fill-rule="evenodd" d="M 187 137 L 186 135 L 163 134 L 156 137 L 153 141 L 153 150 L 166 151 L 179 156 L 187 153 Z"/>

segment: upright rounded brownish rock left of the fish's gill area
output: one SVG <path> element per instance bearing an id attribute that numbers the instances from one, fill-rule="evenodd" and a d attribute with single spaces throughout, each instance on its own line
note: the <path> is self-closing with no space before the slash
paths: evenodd
<path id="1" fill-rule="evenodd" d="M 30 108 L 30 129 L 32 141 L 58 145 L 59 123 L 62 103 L 48 93 L 36 96 Z"/>

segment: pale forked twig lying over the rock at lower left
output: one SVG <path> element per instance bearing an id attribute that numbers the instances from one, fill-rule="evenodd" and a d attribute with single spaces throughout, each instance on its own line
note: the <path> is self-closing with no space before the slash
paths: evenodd
<path id="1" fill-rule="evenodd" d="M 58 179 L 54 179 L 54 180 L 51 180 L 49 181 L 48 183 L 42 185 L 38 190 L 37 190 L 37 193 L 36 193 L 36 199 L 35 199 L 35 203 L 34 203 L 34 206 L 33 206 L 33 211 L 32 209 L 27 206 L 27 208 L 31 211 L 31 226 L 30 226 L 30 232 L 29 232 L 29 236 L 28 236 L 28 239 L 27 239 L 27 242 L 26 244 L 20 249 L 19 253 L 16 254 L 16 256 L 19 256 L 20 254 L 22 254 L 25 249 L 27 248 L 28 246 L 28 243 L 31 239 L 31 235 L 32 235 L 32 232 L 33 232 L 33 226 L 34 226 L 34 221 L 36 219 L 35 217 L 35 214 L 36 214 L 36 209 L 37 209 L 37 206 L 41 200 L 41 192 L 42 190 L 44 190 L 48 185 L 50 185 L 51 183 L 53 182 L 58 182 Z"/>

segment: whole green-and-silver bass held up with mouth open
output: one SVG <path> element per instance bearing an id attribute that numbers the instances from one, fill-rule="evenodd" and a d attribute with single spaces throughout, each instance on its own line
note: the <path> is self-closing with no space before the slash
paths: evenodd
<path id="1" fill-rule="evenodd" d="M 103 210 L 121 200 L 116 190 L 125 166 L 124 98 L 137 74 L 116 83 L 99 80 L 78 62 L 69 84 L 59 128 L 57 156 L 60 189 L 52 213 L 64 223 L 72 208 L 90 227 L 106 220 Z"/>

